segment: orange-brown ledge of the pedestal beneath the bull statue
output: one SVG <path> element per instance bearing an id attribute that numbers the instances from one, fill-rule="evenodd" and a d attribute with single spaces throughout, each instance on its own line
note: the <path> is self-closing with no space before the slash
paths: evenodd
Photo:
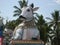
<path id="1" fill-rule="evenodd" d="M 41 40 L 12 40 L 12 45 L 43 45 Z"/>

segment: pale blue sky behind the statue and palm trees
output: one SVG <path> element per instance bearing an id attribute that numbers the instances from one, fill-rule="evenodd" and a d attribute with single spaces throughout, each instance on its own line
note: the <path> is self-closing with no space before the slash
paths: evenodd
<path id="1" fill-rule="evenodd" d="M 15 20 L 17 17 L 13 17 L 15 8 L 19 7 L 19 0 L 0 0 L 0 16 L 4 20 Z M 28 4 L 34 3 L 35 7 L 39 7 L 38 14 L 42 14 L 44 19 L 46 17 L 51 18 L 51 13 L 55 10 L 60 11 L 60 0 L 28 0 Z"/>

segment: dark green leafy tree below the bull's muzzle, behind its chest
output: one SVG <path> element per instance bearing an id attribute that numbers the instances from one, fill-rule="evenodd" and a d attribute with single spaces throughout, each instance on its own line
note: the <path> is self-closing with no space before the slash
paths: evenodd
<path id="1" fill-rule="evenodd" d="M 18 26 L 19 23 L 21 23 L 22 21 L 17 19 L 17 20 L 12 20 L 9 22 L 6 22 L 5 27 L 8 29 L 12 29 L 14 30 L 16 26 Z"/>

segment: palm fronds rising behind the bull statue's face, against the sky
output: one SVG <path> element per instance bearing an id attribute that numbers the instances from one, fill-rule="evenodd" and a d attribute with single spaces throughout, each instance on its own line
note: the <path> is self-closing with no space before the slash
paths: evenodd
<path id="1" fill-rule="evenodd" d="M 13 16 L 20 16 L 20 14 L 21 14 L 21 8 L 23 7 L 23 6 L 27 6 L 27 4 L 28 4 L 28 0 L 26 1 L 26 0 L 21 0 L 21 1 L 18 1 L 18 3 L 19 3 L 19 6 L 20 7 L 17 7 L 17 6 L 14 6 L 14 8 L 16 9 L 15 11 L 14 11 L 14 15 Z"/>

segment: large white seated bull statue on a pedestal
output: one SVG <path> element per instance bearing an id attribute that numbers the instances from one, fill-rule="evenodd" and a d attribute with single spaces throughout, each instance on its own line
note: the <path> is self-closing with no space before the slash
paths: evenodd
<path id="1" fill-rule="evenodd" d="M 23 20 L 13 32 L 12 39 L 14 40 L 32 40 L 40 39 L 39 31 L 35 25 L 33 12 L 36 11 L 38 7 L 34 8 L 34 5 L 24 6 L 22 8 L 22 13 L 20 19 Z"/>

